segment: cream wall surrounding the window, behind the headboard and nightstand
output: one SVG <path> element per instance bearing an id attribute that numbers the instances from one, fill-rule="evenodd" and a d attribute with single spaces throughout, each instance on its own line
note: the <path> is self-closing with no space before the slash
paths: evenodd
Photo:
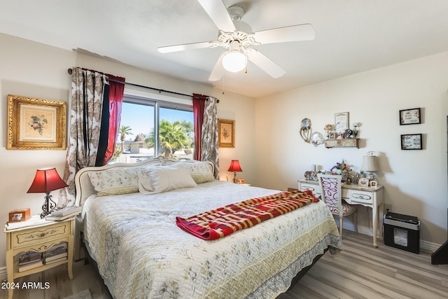
<path id="1" fill-rule="evenodd" d="M 220 149 L 221 176 L 225 179 L 230 160 L 239 158 L 248 181 L 255 181 L 255 155 L 247 153 L 255 144 L 255 100 L 217 90 L 209 85 L 181 81 L 154 74 L 124 64 L 102 60 L 87 55 L 78 55 L 40 43 L 34 43 L 13 36 L 0 34 L 0 223 L 8 221 L 8 211 L 29 207 L 31 214 L 40 214 L 43 194 L 27 190 L 34 179 L 36 169 L 56 167 L 62 176 L 66 151 L 8 151 L 6 132 L 8 124 L 8 95 L 41 97 L 65 101 L 69 99 L 71 76 L 67 69 L 85 67 L 97 69 L 116 76 L 123 76 L 128 82 L 172 90 L 186 94 L 197 92 L 220 99 L 218 118 L 229 118 L 236 122 L 236 147 Z M 145 90 L 148 92 L 148 90 Z M 159 95 L 156 92 L 156 95 Z M 163 95 L 163 94 L 162 94 Z M 69 106 L 67 106 L 69 109 Z M 57 193 L 53 192 L 57 200 Z M 6 235 L 0 237 L 0 277 L 5 272 Z"/>

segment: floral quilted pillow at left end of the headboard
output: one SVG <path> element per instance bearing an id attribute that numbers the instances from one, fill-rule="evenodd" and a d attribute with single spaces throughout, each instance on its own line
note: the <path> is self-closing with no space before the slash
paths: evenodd
<path id="1" fill-rule="evenodd" d="M 88 175 L 97 196 L 139 192 L 137 169 L 111 169 L 89 172 Z"/>

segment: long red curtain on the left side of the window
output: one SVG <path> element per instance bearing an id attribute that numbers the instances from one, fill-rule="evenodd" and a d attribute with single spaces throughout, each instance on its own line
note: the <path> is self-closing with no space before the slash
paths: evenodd
<path id="1" fill-rule="evenodd" d="M 118 131 L 120 130 L 121 106 L 123 106 L 123 92 L 125 78 L 106 74 L 109 77 L 109 134 L 106 153 L 102 165 L 106 165 L 115 152 Z M 114 82 L 118 81 L 118 82 Z"/>

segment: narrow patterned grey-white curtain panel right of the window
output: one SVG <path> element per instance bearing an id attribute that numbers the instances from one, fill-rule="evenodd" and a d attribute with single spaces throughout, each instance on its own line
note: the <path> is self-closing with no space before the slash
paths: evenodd
<path id="1" fill-rule="evenodd" d="M 219 176 L 217 101 L 216 97 L 208 97 L 207 101 L 204 102 L 204 121 L 202 123 L 201 138 L 201 160 L 214 163 L 216 179 Z"/>

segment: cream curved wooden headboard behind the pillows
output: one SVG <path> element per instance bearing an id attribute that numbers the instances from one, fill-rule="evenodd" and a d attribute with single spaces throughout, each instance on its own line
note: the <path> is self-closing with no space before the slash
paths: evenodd
<path id="1" fill-rule="evenodd" d="M 174 163 L 178 162 L 197 162 L 197 160 L 176 160 L 172 158 L 153 158 L 153 159 L 146 159 L 144 161 L 138 162 L 138 163 L 116 163 L 116 164 L 110 164 L 105 165 L 101 167 L 85 167 L 83 169 L 80 169 L 76 173 L 75 176 L 75 186 L 76 186 L 76 200 L 75 204 L 78 206 L 82 206 L 87 200 L 87 197 L 89 197 L 92 194 L 96 194 L 97 192 L 94 190 L 92 183 L 90 182 L 90 177 L 88 176 L 89 172 L 98 172 L 100 170 L 106 170 L 106 169 L 128 169 L 128 168 L 142 168 L 142 167 L 148 167 L 151 165 L 172 165 Z M 209 163 L 212 167 L 211 173 L 214 173 L 213 164 Z"/>

